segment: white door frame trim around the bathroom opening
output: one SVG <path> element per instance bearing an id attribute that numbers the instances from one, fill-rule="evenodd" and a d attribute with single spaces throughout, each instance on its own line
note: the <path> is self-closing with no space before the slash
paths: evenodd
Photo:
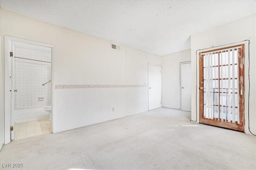
<path id="1" fill-rule="evenodd" d="M 10 126 L 11 126 L 11 81 L 10 81 L 10 52 L 11 52 L 11 43 L 26 43 L 30 45 L 38 45 L 42 47 L 48 47 L 52 49 L 52 132 L 54 132 L 54 99 L 55 99 L 55 76 L 54 76 L 54 45 L 46 44 L 46 43 L 40 43 L 36 41 L 30 41 L 26 39 L 20 39 L 16 37 L 11 37 L 4 35 L 4 144 L 10 143 Z M 9 101 L 9 102 L 8 102 Z M 12 113 L 14 114 L 14 113 Z"/>

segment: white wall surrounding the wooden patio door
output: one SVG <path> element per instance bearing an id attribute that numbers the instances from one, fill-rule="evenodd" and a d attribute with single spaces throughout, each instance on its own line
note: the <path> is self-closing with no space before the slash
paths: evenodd
<path id="1" fill-rule="evenodd" d="M 248 111 L 250 111 L 250 130 L 252 133 L 256 134 L 256 15 L 252 15 L 241 20 L 233 21 L 225 25 L 221 25 L 197 33 L 191 36 L 191 59 L 192 59 L 192 121 L 199 121 L 199 98 L 198 82 L 196 81 L 196 76 L 198 75 L 198 60 L 196 51 L 199 49 L 205 49 L 210 47 L 216 47 L 220 45 L 227 45 L 230 43 L 236 43 L 239 41 L 244 41 L 246 39 L 250 40 L 250 101 L 248 102 L 248 43 L 245 43 L 245 132 L 248 131 Z M 230 45 L 229 45 L 230 46 Z M 196 99 L 197 99 L 197 109 L 196 109 Z M 248 108 L 248 103 L 250 108 Z"/>

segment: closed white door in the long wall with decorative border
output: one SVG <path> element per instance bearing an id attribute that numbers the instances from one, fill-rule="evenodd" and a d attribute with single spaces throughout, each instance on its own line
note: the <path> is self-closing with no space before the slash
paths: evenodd
<path id="1" fill-rule="evenodd" d="M 161 66 L 148 64 L 148 110 L 162 106 Z"/>

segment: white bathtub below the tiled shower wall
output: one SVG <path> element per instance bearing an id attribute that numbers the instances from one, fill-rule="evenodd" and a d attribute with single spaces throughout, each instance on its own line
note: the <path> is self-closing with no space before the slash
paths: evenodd
<path id="1" fill-rule="evenodd" d="M 14 111 L 14 122 L 31 121 L 50 117 L 50 113 L 42 108 L 22 108 Z"/>

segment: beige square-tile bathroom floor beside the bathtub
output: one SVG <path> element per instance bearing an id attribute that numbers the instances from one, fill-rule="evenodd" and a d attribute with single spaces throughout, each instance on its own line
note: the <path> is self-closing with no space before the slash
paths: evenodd
<path id="1" fill-rule="evenodd" d="M 24 139 L 52 132 L 49 118 L 14 123 L 14 140 Z"/>

